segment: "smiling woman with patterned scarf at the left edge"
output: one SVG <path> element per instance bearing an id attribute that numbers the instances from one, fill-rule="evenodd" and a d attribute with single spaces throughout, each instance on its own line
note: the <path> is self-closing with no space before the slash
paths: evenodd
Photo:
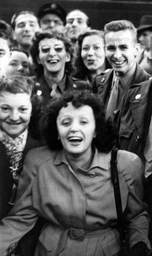
<path id="1" fill-rule="evenodd" d="M 0 220 L 12 209 L 26 153 L 38 147 L 41 99 L 32 82 L 13 75 L 0 81 Z"/>

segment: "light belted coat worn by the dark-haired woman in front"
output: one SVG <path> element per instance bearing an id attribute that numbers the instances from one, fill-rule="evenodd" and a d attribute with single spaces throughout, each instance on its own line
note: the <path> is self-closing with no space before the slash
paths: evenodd
<path id="1" fill-rule="evenodd" d="M 90 168 L 78 168 L 75 173 L 64 150 L 54 152 L 48 147 L 31 150 L 19 180 L 18 201 L 1 222 L 1 255 L 6 256 L 16 247 L 38 216 L 48 223 L 39 236 L 35 256 L 117 254 L 120 240 L 110 158 L 111 153 L 102 154 L 96 149 Z M 119 151 L 117 160 L 129 245 L 143 241 L 150 252 L 147 206 L 142 202 L 142 162 L 127 151 Z M 97 233 L 90 237 L 84 230 Z M 62 242 L 60 248 L 59 242 Z M 58 249 L 61 249 L 59 254 Z"/>

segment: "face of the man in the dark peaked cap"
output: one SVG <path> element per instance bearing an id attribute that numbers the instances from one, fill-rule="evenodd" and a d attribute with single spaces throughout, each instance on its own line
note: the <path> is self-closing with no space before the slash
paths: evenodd
<path id="1" fill-rule="evenodd" d="M 40 20 L 40 27 L 43 30 L 53 29 L 58 26 L 63 26 L 63 21 L 54 13 L 47 13 Z"/>

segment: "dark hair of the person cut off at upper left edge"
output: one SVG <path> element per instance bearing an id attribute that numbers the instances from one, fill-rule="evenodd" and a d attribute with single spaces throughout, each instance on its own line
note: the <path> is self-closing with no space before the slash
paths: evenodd
<path id="1" fill-rule="evenodd" d="M 8 40 L 8 46 L 11 48 L 13 42 L 13 29 L 4 20 L 0 20 L 0 38 Z"/>

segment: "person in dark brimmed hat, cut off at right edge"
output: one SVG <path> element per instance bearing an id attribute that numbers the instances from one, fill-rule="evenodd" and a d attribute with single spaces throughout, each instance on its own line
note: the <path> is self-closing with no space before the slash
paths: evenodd
<path id="1" fill-rule="evenodd" d="M 152 74 L 152 15 L 144 15 L 137 28 L 141 50 L 136 58 L 140 67 Z"/>

